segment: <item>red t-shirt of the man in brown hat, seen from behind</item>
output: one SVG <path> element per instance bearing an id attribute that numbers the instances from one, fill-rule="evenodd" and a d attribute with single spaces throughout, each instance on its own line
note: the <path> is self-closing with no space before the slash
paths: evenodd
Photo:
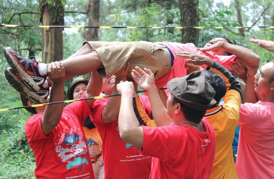
<path id="1" fill-rule="evenodd" d="M 209 178 L 215 156 L 215 133 L 205 118 L 206 132 L 190 126 L 143 127 L 141 154 L 152 157 L 150 178 Z"/>

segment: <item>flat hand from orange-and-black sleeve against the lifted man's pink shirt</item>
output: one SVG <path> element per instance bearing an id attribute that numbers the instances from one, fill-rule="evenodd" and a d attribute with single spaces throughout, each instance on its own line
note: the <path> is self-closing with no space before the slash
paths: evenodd
<path id="1" fill-rule="evenodd" d="M 194 65 L 206 64 L 208 67 L 211 67 L 214 62 L 213 59 L 211 59 L 210 57 L 205 56 L 205 55 L 196 54 L 196 53 L 176 51 L 175 54 L 177 56 L 186 58 L 187 63 L 192 63 Z"/>

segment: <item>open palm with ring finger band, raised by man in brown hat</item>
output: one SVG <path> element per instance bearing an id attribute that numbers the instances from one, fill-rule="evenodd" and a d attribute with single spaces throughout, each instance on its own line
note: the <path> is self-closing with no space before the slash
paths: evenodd
<path id="1" fill-rule="evenodd" d="M 155 86 L 154 74 L 151 70 L 144 68 L 142 70 L 139 67 L 135 67 L 135 70 L 132 70 L 132 78 L 138 84 L 140 88 L 143 90 L 150 90 L 152 87 Z"/>

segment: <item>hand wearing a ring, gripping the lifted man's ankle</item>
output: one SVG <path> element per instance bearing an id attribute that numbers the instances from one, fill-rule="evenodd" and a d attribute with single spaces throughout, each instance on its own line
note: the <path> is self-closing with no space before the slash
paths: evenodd
<path id="1" fill-rule="evenodd" d="M 52 83 L 62 83 L 66 80 L 65 67 L 61 62 L 55 61 L 48 65 L 48 76 Z"/>

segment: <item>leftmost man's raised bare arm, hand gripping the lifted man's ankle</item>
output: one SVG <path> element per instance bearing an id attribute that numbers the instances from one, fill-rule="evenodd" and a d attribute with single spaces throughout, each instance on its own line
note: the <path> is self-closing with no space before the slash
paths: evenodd
<path id="1" fill-rule="evenodd" d="M 61 62 L 52 62 L 48 65 L 48 74 L 52 81 L 49 103 L 64 100 L 65 68 Z M 60 122 L 63 113 L 63 103 L 47 105 L 41 119 L 44 134 L 49 134 Z"/>

